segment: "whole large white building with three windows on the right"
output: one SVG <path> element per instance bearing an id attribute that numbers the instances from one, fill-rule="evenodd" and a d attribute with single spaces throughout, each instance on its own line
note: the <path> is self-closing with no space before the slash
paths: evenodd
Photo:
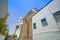
<path id="1" fill-rule="evenodd" d="M 32 17 L 33 40 L 60 40 L 60 0 L 52 0 Z"/>

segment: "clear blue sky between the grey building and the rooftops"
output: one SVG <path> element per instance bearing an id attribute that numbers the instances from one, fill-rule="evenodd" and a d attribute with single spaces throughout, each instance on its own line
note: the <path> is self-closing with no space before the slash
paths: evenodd
<path id="1" fill-rule="evenodd" d="M 24 17 L 31 9 L 41 9 L 50 0 L 8 0 L 9 34 L 12 35 L 19 17 Z"/>

